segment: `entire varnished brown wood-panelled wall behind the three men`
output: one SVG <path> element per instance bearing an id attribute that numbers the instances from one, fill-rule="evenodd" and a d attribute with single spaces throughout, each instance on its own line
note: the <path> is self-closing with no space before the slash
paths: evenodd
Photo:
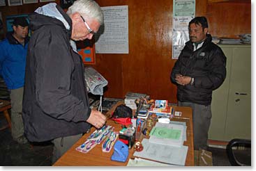
<path id="1" fill-rule="evenodd" d="M 129 54 L 96 54 L 96 65 L 91 65 L 109 82 L 105 97 L 123 98 L 133 91 L 175 103 L 176 86 L 170 81 L 176 61 L 172 60 L 173 1 L 96 1 L 100 6 L 127 5 L 129 14 Z M 210 2 L 196 0 L 196 16 L 206 15 L 212 35 L 232 38 L 251 32 L 250 1 Z M 32 13 L 43 4 L 4 6 L 0 10 L 4 19 L 7 15 Z"/>

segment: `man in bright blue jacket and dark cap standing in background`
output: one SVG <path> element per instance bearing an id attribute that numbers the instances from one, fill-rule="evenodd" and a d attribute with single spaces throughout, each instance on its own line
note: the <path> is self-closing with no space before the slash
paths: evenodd
<path id="1" fill-rule="evenodd" d="M 16 17 L 13 32 L 0 42 L 0 73 L 10 90 L 13 140 L 27 143 L 22 122 L 22 98 L 28 47 L 29 23 L 25 17 Z"/>

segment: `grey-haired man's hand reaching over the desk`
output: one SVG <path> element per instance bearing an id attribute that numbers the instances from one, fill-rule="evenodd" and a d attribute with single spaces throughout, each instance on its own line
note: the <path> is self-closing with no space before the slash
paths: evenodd
<path id="1" fill-rule="evenodd" d="M 94 127 L 99 129 L 99 128 L 103 127 L 106 120 L 107 120 L 107 117 L 105 117 L 105 115 L 103 115 L 103 113 L 100 113 L 99 111 L 91 109 L 91 115 L 88 118 L 88 120 L 86 120 L 86 122 L 89 122 Z"/>

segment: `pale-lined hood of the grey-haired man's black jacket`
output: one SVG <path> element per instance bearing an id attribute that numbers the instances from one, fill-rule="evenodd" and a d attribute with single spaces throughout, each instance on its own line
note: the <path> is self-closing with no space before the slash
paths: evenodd
<path id="1" fill-rule="evenodd" d="M 36 31 L 41 26 L 57 25 L 64 26 L 71 35 L 72 20 L 57 3 L 48 3 L 45 6 L 37 8 L 34 13 L 29 15 L 29 21 L 31 31 Z"/>

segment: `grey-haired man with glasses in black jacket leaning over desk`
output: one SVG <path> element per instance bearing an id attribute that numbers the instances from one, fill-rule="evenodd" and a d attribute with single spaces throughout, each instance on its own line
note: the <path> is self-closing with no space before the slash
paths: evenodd
<path id="1" fill-rule="evenodd" d="M 89 108 L 84 65 L 76 40 L 91 39 L 103 24 L 103 12 L 93 0 L 77 0 L 65 13 L 48 3 L 29 19 L 29 42 L 22 118 L 31 142 L 52 140 L 52 163 L 62 156 L 91 125 L 106 122 Z"/>

